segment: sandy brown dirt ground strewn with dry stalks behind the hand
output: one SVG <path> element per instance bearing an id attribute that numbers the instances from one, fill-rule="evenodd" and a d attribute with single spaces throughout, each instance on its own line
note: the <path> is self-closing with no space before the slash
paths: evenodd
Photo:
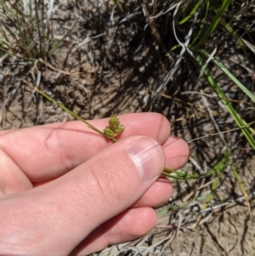
<path id="1" fill-rule="evenodd" d="M 131 3 L 132 4 L 132 3 Z M 0 68 L 1 128 L 25 128 L 48 122 L 73 119 L 58 107 L 33 91 L 41 90 L 59 100 L 71 111 L 85 119 L 110 117 L 140 111 L 156 111 L 172 124 L 174 135 L 187 141 L 208 134 L 236 128 L 225 106 L 212 89 L 186 60 L 156 97 L 173 59 L 164 48 L 174 43 L 169 26 L 172 14 L 159 18 L 161 46 L 146 26 L 140 5 L 132 13 L 122 14 L 113 3 L 105 1 L 59 1 L 52 16 L 54 37 L 61 38 L 76 23 L 63 46 L 48 55 L 47 63 L 37 68 L 22 63 L 9 63 L 8 57 Z M 165 26 L 165 27 L 164 27 Z M 227 40 L 228 38 L 224 38 Z M 219 43 L 220 44 L 220 43 Z M 240 65 L 230 61 L 235 54 L 219 45 L 231 70 L 254 92 L 254 80 Z M 51 67 L 53 66 L 54 69 Z M 61 71 L 80 72 L 66 75 Z M 254 120 L 254 105 L 229 82 L 221 72 L 212 68 L 221 87 L 246 122 Z M 198 92 L 198 93 L 197 93 Z M 209 95 L 209 97 L 208 97 Z M 192 197 L 195 181 L 173 181 L 175 192 L 162 208 L 170 209 L 191 201 L 189 206 L 172 210 L 159 217 L 153 232 L 135 242 L 107 248 L 101 255 L 255 255 L 255 157 L 240 130 L 208 136 L 190 142 L 190 162 L 184 168 L 202 174 L 224 157 L 226 148 L 250 196 L 252 216 L 231 168 L 226 164 L 219 185 L 207 209 L 201 213 L 210 179 L 198 182 L 196 200 Z M 203 186 L 204 185 L 204 186 Z"/>

